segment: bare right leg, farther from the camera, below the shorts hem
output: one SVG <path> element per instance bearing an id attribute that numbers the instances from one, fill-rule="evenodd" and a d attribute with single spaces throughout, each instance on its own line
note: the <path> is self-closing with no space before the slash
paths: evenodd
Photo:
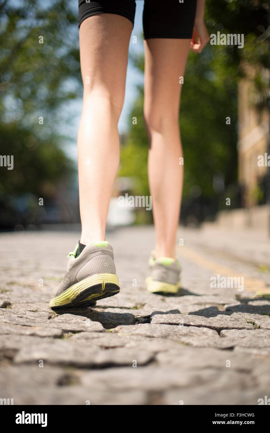
<path id="1" fill-rule="evenodd" d="M 156 258 L 175 258 L 183 165 L 179 103 L 190 39 L 146 39 L 144 117 L 150 140 L 148 176 L 156 229 Z"/>

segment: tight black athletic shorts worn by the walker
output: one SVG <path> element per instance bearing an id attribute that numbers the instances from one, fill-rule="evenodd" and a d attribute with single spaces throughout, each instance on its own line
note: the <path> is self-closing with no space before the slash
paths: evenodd
<path id="1" fill-rule="evenodd" d="M 129 19 L 134 25 L 135 0 L 79 1 L 79 26 L 89 16 L 114 13 Z M 144 39 L 191 39 L 195 19 L 196 0 L 144 0 Z"/>

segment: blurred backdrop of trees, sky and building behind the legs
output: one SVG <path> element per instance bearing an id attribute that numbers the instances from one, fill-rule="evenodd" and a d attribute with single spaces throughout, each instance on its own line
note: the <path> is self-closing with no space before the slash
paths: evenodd
<path id="1" fill-rule="evenodd" d="M 80 222 L 77 3 L 0 1 L 0 154 L 14 155 L 13 170 L 0 167 L 2 231 L 78 227 Z M 185 161 L 181 222 L 198 226 L 215 220 L 221 226 L 268 233 L 270 167 L 258 166 L 258 156 L 270 155 L 269 5 L 259 0 L 206 3 L 209 33 L 243 33 L 244 48 L 208 44 L 202 54 L 189 54 L 179 115 Z M 120 195 L 150 194 L 142 10 L 143 1 L 137 1 L 111 227 L 152 222 L 150 211 L 118 207 Z"/>

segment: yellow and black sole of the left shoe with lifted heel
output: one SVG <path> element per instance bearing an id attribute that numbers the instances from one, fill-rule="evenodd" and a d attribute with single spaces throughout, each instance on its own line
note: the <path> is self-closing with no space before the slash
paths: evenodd
<path id="1" fill-rule="evenodd" d="M 50 301 L 51 308 L 79 307 L 89 301 L 119 293 L 119 281 L 115 274 L 95 274 L 73 284 Z"/>

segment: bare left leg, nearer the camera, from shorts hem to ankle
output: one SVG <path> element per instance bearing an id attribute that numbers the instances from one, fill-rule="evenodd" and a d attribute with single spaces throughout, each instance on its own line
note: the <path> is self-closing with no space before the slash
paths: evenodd
<path id="1" fill-rule="evenodd" d="M 116 14 L 80 26 L 83 109 L 78 132 L 81 243 L 105 239 L 107 212 L 119 165 L 117 123 L 124 101 L 132 23 Z"/>

